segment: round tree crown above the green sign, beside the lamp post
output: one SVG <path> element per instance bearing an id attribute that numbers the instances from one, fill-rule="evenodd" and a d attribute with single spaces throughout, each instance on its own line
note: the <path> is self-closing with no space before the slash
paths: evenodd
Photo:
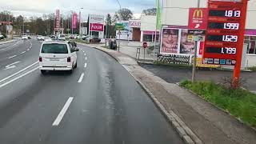
<path id="1" fill-rule="evenodd" d="M 126 8 L 118 10 L 118 12 L 114 14 L 114 21 L 129 21 L 131 18 L 133 18 L 133 13 L 131 12 L 131 10 Z"/>

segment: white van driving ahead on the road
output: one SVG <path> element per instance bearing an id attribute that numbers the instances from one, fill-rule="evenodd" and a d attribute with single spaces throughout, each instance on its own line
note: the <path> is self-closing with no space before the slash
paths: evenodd
<path id="1" fill-rule="evenodd" d="M 43 42 L 39 54 L 39 70 L 72 70 L 78 66 L 78 48 L 70 42 Z"/>

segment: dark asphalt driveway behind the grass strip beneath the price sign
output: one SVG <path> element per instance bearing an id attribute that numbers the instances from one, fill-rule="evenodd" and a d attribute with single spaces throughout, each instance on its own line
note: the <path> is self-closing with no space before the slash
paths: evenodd
<path id="1" fill-rule="evenodd" d="M 158 66 L 141 64 L 146 70 L 151 71 L 166 82 L 176 83 L 182 80 L 191 79 L 192 70 L 186 67 Z M 256 72 L 241 72 L 242 86 L 256 92 Z M 232 78 L 233 71 L 223 70 L 197 70 L 196 79 L 201 81 L 224 82 L 224 78 Z"/>

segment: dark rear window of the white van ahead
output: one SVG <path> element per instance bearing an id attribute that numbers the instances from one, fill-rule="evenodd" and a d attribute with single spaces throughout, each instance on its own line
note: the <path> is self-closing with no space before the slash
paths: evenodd
<path id="1" fill-rule="evenodd" d="M 66 44 L 49 43 L 42 45 L 42 53 L 45 54 L 68 54 Z"/>

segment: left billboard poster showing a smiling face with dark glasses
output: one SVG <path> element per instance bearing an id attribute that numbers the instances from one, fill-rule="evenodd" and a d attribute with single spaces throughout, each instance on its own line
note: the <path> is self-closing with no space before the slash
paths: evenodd
<path id="1" fill-rule="evenodd" d="M 178 29 L 162 29 L 161 54 L 178 54 Z"/>

